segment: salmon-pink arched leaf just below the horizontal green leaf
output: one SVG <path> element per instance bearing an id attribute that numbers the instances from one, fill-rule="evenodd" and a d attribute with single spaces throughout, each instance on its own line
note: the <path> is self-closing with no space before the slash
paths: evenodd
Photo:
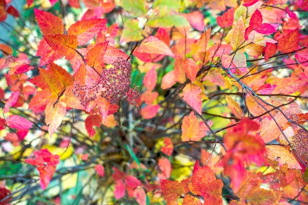
<path id="1" fill-rule="evenodd" d="M 155 36 L 148 36 L 145 38 L 137 49 L 137 52 L 175 57 L 169 46 Z"/>

